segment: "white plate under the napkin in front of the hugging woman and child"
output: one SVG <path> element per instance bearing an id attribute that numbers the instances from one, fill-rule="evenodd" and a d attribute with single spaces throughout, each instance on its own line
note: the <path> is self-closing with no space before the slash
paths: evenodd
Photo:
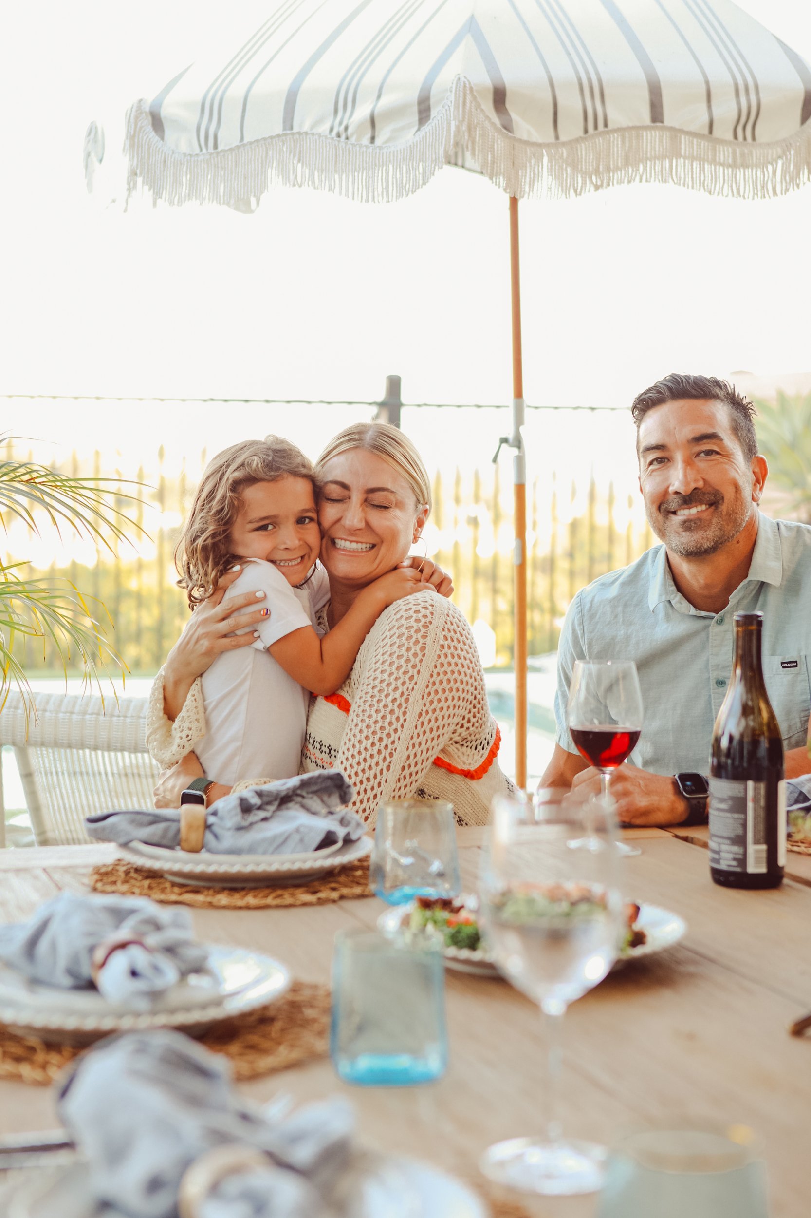
<path id="1" fill-rule="evenodd" d="M 328 871 L 346 867 L 371 854 L 371 838 L 343 842 L 308 854 L 211 854 L 201 850 L 170 850 L 168 847 L 130 842 L 118 848 L 128 862 L 160 871 L 178 884 L 218 888 L 265 888 L 301 884 Z"/>

